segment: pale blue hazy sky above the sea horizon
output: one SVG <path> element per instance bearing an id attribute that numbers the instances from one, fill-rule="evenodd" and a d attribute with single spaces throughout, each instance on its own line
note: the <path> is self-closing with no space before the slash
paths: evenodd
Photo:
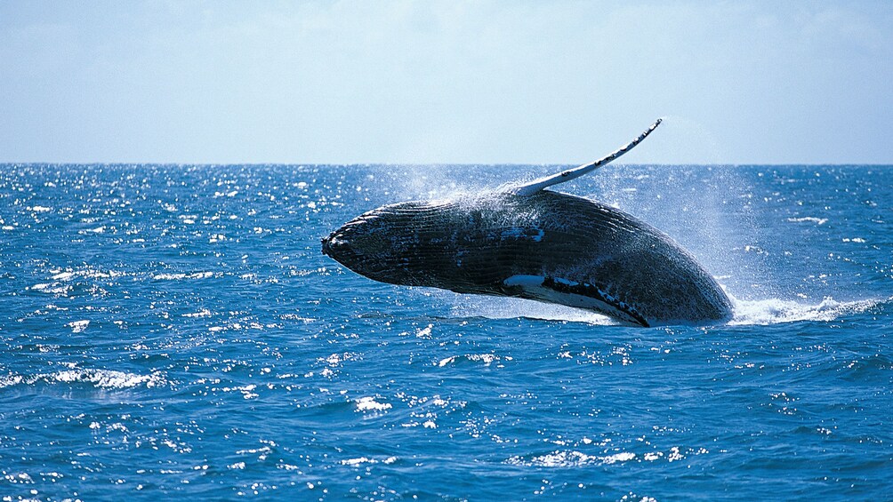
<path id="1" fill-rule="evenodd" d="M 0 162 L 893 164 L 893 3 L 0 2 Z"/>

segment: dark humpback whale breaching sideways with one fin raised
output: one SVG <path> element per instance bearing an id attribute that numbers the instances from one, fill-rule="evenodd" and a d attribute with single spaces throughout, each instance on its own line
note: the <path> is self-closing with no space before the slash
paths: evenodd
<path id="1" fill-rule="evenodd" d="M 575 169 L 369 210 L 323 238 L 322 252 L 382 283 L 556 303 L 621 325 L 725 322 L 732 305 L 722 286 L 669 235 L 605 203 L 548 189 L 629 152 L 661 121 Z"/>

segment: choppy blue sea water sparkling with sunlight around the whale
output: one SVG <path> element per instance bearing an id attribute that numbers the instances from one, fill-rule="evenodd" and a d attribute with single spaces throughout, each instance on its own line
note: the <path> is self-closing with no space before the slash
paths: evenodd
<path id="1" fill-rule="evenodd" d="M 565 192 L 735 299 L 631 328 L 377 284 L 320 238 L 547 166 L 0 166 L 0 495 L 893 499 L 893 168 Z"/>

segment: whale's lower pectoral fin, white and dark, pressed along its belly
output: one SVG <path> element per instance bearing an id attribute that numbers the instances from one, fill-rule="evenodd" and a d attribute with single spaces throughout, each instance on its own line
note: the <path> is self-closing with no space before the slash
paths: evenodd
<path id="1" fill-rule="evenodd" d="M 513 296 L 595 310 L 624 323 L 648 327 L 648 321 L 635 307 L 592 284 L 560 277 L 511 276 L 503 285 Z"/>

